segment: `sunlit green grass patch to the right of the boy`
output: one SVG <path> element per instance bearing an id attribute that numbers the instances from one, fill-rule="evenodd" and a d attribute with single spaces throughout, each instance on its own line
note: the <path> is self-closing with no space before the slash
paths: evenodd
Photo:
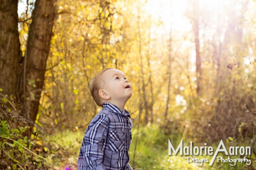
<path id="1" fill-rule="evenodd" d="M 136 137 L 138 135 L 136 154 L 134 158 L 134 151 L 136 145 Z M 144 127 L 139 131 L 133 130 L 133 139 L 131 143 L 131 149 L 129 151 L 131 160 L 130 164 L 133 165 L 134 170 L 211 170 L 211 169 L 227 169 L 227 170 L 239 170 L 250 168 L 245 163 L 236 163 L 236 166 L 230 166 L 229 163 L 217 162 L 213 166 L 209 166 L 212 156 L 193 156 L 199 159 L 208 159 L 208 163 L 204 162 L 202 166 L 198 166 L 197 163 L 188 162 L 186 157 L 191 156 L 169 156 L 168 155 L 168 139 L 174 141 L 172 143 L 174 148 L 176 148 L 181 141 L 181 138 L 177 135 L 165 135 L 164 130 L 160 130 L 156 126 Z M 184 143 L 189 143 L 184 141 Z M 216 143 L 213 145 L 214 151 L 217 148 Z M 185 146 L 186 144 L 184 144 Z M 233 143 L 233 145 L 236 145 Z M 225 144 L 228 149 L 228 145 Z M 178 152 L 179 153 L 179 152 Z M 223 156 L 224 159 L 227 159 L 227 156 L 224 156 L 222 153 L 219 153 L 217 156 Z M 230 156 L 231 159 L 239 158 L 236 156 Z M 255 163 L 254 163 L 255 165 Z M 254 167 L 255 168 L 255 167 Z M 252 168 L 252 169 L 254 169 Z"/>

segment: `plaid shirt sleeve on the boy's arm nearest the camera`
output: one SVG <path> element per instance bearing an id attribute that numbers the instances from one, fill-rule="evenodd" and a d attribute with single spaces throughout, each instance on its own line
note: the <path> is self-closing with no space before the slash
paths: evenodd
<path id="1" fill-rule="evenodd" d="M 102 165 L 103 150 L 106 146 L 106 135 L 109 128 L 109 118 L 99 114 L 89 124 L 78 157 L 78 169 L 105 170 Z"/>

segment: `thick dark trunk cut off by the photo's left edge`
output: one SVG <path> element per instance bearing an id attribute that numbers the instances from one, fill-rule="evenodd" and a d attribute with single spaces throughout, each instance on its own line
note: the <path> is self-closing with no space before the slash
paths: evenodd
<path id="1" fill-rule="evenodd" d="M 9 96 L 17 94 L 22 60 L 17 9 L 18 0 L 0 3 L 0 88 Z"/>

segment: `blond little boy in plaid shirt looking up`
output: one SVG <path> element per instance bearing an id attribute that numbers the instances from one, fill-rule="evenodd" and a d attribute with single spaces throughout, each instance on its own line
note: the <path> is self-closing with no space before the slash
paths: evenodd
<path id="1" fill-rule="evenodd" d="M 90 82 L 95 103 L 103 109 L 86 129 L 78 157 L 79 170 L 132 170 L 129 165 L 132 122 L 124 110 L 132 86 L 118 69 L 106 68 Z"/>

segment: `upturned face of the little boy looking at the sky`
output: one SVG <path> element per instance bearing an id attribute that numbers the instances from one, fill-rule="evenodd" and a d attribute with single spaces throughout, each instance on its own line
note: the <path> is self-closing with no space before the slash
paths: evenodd
<path id="1" fill-rule="evenodd" d="M 103 89 L 110 96 L 111 101 L 126 103 L 131 97 L 132 86 L 125 74 L 118 69 L 108 69 L 102 74 Z"/>

